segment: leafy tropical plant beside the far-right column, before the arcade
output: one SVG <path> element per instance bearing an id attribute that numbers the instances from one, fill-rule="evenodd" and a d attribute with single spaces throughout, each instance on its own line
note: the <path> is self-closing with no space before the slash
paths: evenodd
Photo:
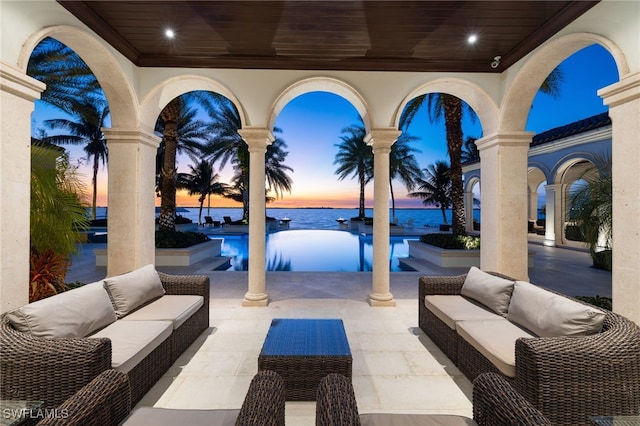
<path id="1" fill-rule="evenodd" d="M 611 157 L 601 155 L 580 176 L 578 188 L 569 197 L 571 219 L 575 221 L 594 265 L 603 257 L 601 251 L 612 248 L 613 180 Z M 604 249 L 604 250 L 602 250 Z M 610 268 L 610 265 L 608 267 Z"/>

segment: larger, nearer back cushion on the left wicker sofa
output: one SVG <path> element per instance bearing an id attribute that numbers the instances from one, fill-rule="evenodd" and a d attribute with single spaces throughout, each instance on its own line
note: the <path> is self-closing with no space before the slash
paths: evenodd
<path id="1" fill-rule="evenodd" d="M 37 337 L 85 337 L 117 319 L 102 282 L 38 300 L 7 317 L 16 330 Z"/>

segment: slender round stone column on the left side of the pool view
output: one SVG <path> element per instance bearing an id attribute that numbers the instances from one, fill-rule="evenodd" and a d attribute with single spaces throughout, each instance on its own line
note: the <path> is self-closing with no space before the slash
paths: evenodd
<path id="1" fill-rule="evenodd" d="M 264 128 L 248 128 L 238 133 L 249 146 L 249 289 L 242 306 L 267 306 L 265 272 L 265 153 L 273 133 Z"/>

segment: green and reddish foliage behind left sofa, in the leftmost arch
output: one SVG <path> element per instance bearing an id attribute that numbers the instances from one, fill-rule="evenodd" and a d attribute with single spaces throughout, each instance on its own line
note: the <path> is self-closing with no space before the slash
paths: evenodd
<path id="1" fill-rule="evenodd" d="M 89 221 L 81 202 L 77 167 L 62 150 L 34 143 L 31 148 L 29 301 L 65 290 L 78 233 Z"/>

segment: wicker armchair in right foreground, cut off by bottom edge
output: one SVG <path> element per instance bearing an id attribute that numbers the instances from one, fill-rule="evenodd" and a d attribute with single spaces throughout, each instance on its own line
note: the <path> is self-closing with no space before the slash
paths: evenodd
<path id="1" fill-rule="evenodd" d="M 351 381 L 330 374 L 318 386 L 316 426 L 547 426 L 542 413 L 502 376 L 486 373 L 473 386 L 473 419 L 445 414 L 359 414 Z"/>

